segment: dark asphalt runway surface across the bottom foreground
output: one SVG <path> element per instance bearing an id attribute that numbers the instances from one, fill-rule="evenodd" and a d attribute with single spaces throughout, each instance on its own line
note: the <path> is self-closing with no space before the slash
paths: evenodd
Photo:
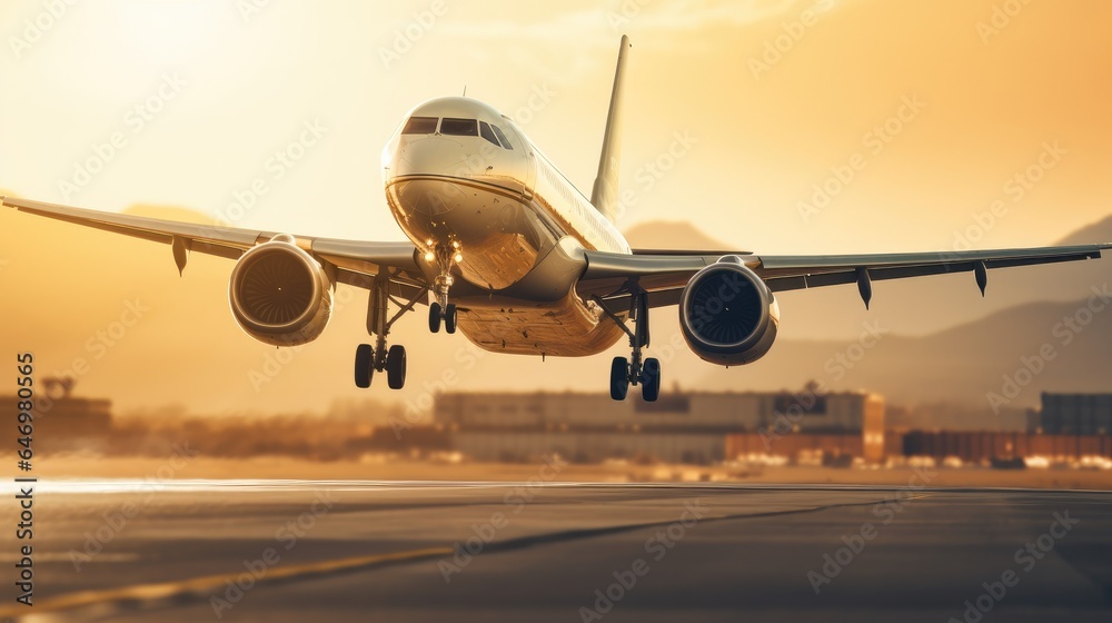
<path id="1" fill-rule="evenodd" d="M 4 578 L 0 619 L 1112 620 L 1110 494 L 538 474 L 39 483 L 36 605 Z"/>

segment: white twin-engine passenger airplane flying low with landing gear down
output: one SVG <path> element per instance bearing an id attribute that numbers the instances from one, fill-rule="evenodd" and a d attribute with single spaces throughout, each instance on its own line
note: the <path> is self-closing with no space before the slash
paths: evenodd
<path id="1" fill-rule="evenodd" d="M 406 349 L 389 345 L 388 336 L 401 316 L 427 305 L 429 330 L 458 329 L 495 353 L 586 357 L 627 337 L 631 356 L 610 364 L 616 400 L 637 385 L 644 400 L 659 396 L 661 363 L 645 357 L 653 309 L 678 306 L 696 355 L 739 366 L 772 348 L 778 291 L 856 284 L 867 308 L 874 280 L 973 273 L 984 296 L 990 269 L 1096 259 L 1112 248 L 835 256 L 631 248 L 614 226 L 631 47 L 623 37 L 589 199 L 513 119 L 476 99 L 443 97 L 411 109 L 383 150 L 386 202 L 409 243 L 185 224 L 16 198 L 0 197 L 0 205 L 168 244 L 179 273 L 189 253 L 236 260 L 232 316 L 249 336 L 278 347 L 321 335 L 337 284 L 368 290 L 375 344 L 356 348 L 358 387 L 369 387 L 376 372 L 385 372 L 394 389 L 405 385 Z"/>

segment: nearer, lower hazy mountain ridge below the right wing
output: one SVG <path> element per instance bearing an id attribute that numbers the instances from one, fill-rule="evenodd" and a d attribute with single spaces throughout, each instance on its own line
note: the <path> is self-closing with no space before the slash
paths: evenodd
<path id="1" fill-rule="evenodd" d="M 698 384 L 728 387 L 744 378 L 802 387 L 813 378 L 897 404 L 947 400 L 985 413 L 993 402 L 1035 406 L 1044 390 L 1112 390 L 1112 300 L 1032 303 L 926 337 L 878 333 L 874 339 L 863 327 L 863 337 L 848 342 L 785 340 L 761 362 L 712 369 Z"/>

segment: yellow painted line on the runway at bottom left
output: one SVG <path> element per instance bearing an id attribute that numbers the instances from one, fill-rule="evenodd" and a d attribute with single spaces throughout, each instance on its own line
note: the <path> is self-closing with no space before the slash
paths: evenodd
<path id="1" fill-rule="evenodd" d="M 281 580 L 312 577 L 315 575 L 327 575 L 341 571 L 351 571 L 360 567 L 373 567 L 381 564 L 431 558 L 436 556 L 450 555 L 455 552 L 451 547 L 427 547 L 424 550 L 410 550 L 408 552 L 395 552 L 393 554 L 375 554 L 370 556 L 354 556 L 350 558 L 338 558 L 302 565 L 270 568 L 266 574 L 255 580 L 255 585 L 268 584 Z M 109 605 L 120 602 L 157 602 L 179 597 L 183 595 L 203 595 L 215 590 L 224 589 L 229 582 L 236 583 L 245 572 L 238 571 L 231 574 L 207 575 L 182 580 L 178 582 L 162 582 L 157 584 L 139 584 L 126 586 L 123 589 L 109 589 L 105 591 L 82 591 L 70 593 L 58 597 L 38 602 L 31 607 L 23 606 L 17 609 L 0 610 L 0 619 L 32 616 L 50 612 L 61 612 L 95 605 Z"/>

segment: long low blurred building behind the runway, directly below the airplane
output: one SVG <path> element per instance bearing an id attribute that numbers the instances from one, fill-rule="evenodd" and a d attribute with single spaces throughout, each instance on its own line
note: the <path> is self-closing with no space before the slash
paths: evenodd
<path id="1" fill-rule="evenodd" d="M 758 453 L 800 451 L 838 457 L 884 456 L 884 400 L 861 392 L 673 392 L 655 403 L 604 394 L 451 393 L 434 418 L 456 449 L 478 461 L 532 461 L 559 453 L 707 464 Z"/>

